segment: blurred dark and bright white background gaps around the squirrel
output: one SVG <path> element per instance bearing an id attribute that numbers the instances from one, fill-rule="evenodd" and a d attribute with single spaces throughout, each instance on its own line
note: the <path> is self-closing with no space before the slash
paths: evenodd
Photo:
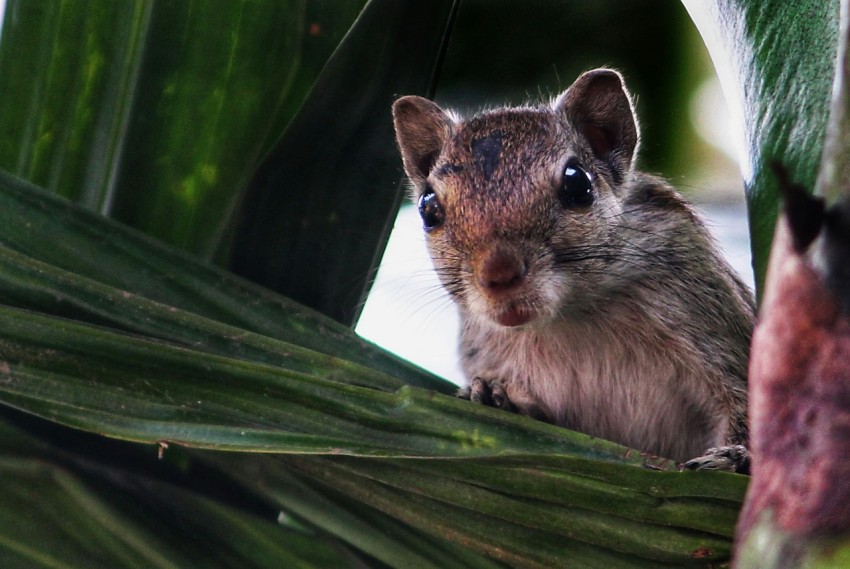
<path id="1" fill-rule="evenodd" d="M 600 66 L 620 70 L 635 96 L 638 167 L 663 175 L 688 196 L 752 286 L 740 135 L 680 3 L 464 0 L 435 99 L 462 114 L 548 100 L 582 71 Z M 431 270 L 419 216 L 405 204 L 357 331 L 462 383 L 457 326 L 456 310 Z"/>

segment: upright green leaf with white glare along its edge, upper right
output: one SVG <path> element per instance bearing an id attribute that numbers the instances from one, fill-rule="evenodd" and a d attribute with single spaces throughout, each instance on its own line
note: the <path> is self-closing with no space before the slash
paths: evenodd
<path id="1" fill-rule="evenodd" d="M 829 117 L 838 0 L 683 0 L 714 61 L 744 141 L 741 170 L 761 292 L 778 211 L 771 169 L 813 188 Z"/>

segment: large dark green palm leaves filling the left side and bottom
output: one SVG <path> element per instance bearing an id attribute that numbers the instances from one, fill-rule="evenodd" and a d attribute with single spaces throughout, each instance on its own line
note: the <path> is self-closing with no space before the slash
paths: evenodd
<path id="1" fill-rule="evenodd" d="M 395 183 L 388 101 L 395 89 L 433 87 L 456 6 L 371 0 L 338 46 L 351 5 L 214 6 L 10 2 L 0 72 L 4 100 L 17 102 L 4 109 L 34 106 L 0 115 L 4 125 L 22 120 L 0 146 L 2 164 L 207 260 L 219 250 L 238 265 L 271 245 L 283 259 L 275 278 L 312 287 L 313 307 L 351 321 L 397 206 L 398 194 L 358 194 Z M 773 17 L 760 14 L 752 22 Z M 284 20 L 292 29 L 275 27 Z M 96 33 L 98 22 L 114 23 L 112 33 Z M 400 33 L 409 22 L 416 33 Z M 761 33 L 755 23 L 748 29 Z M 80 26 L 92 32 L 67 32 Z M 311 48 L 314 33 L 324 43 Z M 28 78 L 8 45 L 41 53 L 43 73 Z M 208 72 L 206 53 L 218 62 Z M 79 54 L 78 75 L 60 73 L 69 54 Z M 270 65 L 278 58 L 291 66 Z M 217 88 L 189 69 L 214 75 Z M 72 105 L 39 96 L 57 85 L 72 86 Z M 353 144 L 367 127 L 374 144 Z M 237 140 L 247 146 L 235 155 Z M 361 187 L 362 167 L 376 188 Z M 143 199 L 136 185 L 146 178 L 161 191 L 128 206 Z M 192 203 L 204 205 L 181 209 Z M 239 208 L 234 234 L 196 233 L 198 216 L 223 228 Z M 332 230 L 336 250 L 282 254 L 279 241 L 249 231 L 267 228 L 267 214 L 292 214 L 276 227 L 289 243 Z M 0 473 L 13 490 L 0 506 L 4 567 L 708 567 L 729 558 L 742 477 L 678 472 L 456 400 L 445 382 L 337 321 L 8 174 L 0 227 Z"/>

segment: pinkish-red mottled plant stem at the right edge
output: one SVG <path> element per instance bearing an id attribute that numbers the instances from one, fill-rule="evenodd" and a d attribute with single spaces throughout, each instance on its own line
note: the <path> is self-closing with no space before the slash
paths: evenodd
<path id="1" fill-rule="evenodd" d="M 782 219 L 751 352 L 739 543 L 765 510 L 792 536 L 850 530 L 850 318 L 812 257 Z"/>

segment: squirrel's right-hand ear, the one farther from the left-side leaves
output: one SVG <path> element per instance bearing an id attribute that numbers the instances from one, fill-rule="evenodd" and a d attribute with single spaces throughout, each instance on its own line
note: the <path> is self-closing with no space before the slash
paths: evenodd
<path id="1" fill-rule="evenodd" d="M 612 69 L 583 73 L 554 108 L 585 137 L 597 158 L 614 167 L 615 175 L 631 168 L 640 133 L 622 75 Z"/>

